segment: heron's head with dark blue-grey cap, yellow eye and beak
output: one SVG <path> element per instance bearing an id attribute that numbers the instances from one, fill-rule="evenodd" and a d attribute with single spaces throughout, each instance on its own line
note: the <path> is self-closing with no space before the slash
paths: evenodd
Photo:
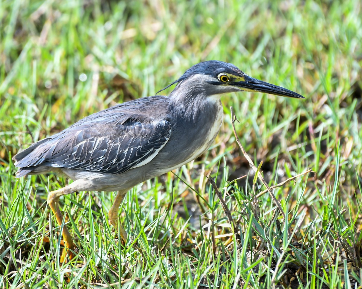
<path id="1" fill-rule="evenodd" d="M 177 90 L 181 89 L 185 93 L 203 93 L 205 96 L 215 96 L 226 92 L 257 91 L 291 98 L 304 98 L 294 91 L 247 76 L 233 64 L 217 60 L 195 64 L 177 81 L 164 89 L 175 83 L 178 83 Z"/>

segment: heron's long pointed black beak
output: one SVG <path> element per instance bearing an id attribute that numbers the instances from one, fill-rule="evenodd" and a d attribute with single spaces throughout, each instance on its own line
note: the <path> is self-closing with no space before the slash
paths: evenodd
<path id="1" fill-rule="evenodd" d="M 243 78 L 245 81 L 238 81 L 234 83 L 235 86 L 239 87 L 243 91 L 258 91 L 292 98 L 304 98 L 304 96 L 294 91 L 252 78 L 250 76 L 244 76 Z"/>

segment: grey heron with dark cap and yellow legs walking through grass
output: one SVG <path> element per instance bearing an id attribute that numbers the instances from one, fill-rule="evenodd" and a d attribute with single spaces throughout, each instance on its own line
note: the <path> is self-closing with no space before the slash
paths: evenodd
<path id="1" fill-rule="evenodd" d="M 158 95 L 176 85 L 168 96 Z M 193 65 L 155 96 L 134 99 L 93 113 L 31 144 L 13 157 L 16 177 L 62 173 L 73 180 L 48 194 L 59 226 L 59 197 L 79 191 L 118 191 L 108 212 L 116 227 L 119 206 L 135 185 L 172 171 L 208 150 L 223 120 L 220 95 L 254 91 L 303 99 L 294 91 L 252 78 L 235 65 L 209 60 Z M 117 227 L 116 227 L 117 228 Z M 126 243 L 127 233 L 119 226 Z M 73 258 L 66 226 L 60 261 Z"/>

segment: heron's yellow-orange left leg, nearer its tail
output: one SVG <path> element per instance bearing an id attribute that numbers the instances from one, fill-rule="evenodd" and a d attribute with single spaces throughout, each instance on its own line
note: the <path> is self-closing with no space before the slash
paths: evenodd
<path id="1" fill-rule="evenodd" d="M 59 226 L 62 226 L 63 224 L 63 215 L 62 212 L 59 210 L 59 197 L 62 195 L 67 195 L 73 193 L 73 190 L 70 186 L 65 186 L 62 189 L 51 191 L 48 194 L 48 204 L 51 210 L 53 211 L 56 222 Z M 74 254 L 71 250 L 73 250 L 74 244 L 72 240 L 72 235 L 69 233 L 67 227 L 63 226 L 63 241 L 64 241 L 64 249 L 62 251 L 62 255 L 60 256 L 60 262 L 64 262 L 66 260 L 66 256 L 68 253 L 68 256 L 70 259 L 73 258 Z"/>

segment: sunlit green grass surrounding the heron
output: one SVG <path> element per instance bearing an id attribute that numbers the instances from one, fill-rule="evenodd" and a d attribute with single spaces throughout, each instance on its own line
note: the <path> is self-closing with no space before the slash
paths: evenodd
<path id="1" fill-rule="evenodd" d="M 361 288 L 361 22 L 359 0 L 1 1 L 0 288 Z M 69 180 L 18 180 L 11 157 L 211 59 L 306 100 L 224 95 L 210 150 L 127 194 L 125 247 L 108 225 L 115 193 L 64 197 L 78 255 L 59 263 L 46 200 Z M 231 106 L 270 186 L 315 172 L 273 190 L 286 220 L 270 194 L 254 198 L 265 187 Z"/>

